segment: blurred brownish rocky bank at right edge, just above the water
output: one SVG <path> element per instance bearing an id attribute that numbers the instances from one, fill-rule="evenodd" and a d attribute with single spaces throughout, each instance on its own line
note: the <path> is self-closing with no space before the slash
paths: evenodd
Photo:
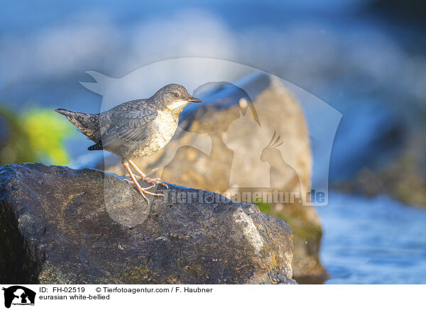
<path id="1" fill-rule="evenodd" d="M 334 184 L 334 189 L 365 196 L 387 194 L 407 205 L 426 206 L 425 120 L 418 111 L 405 125 L 402 140 L 400 135 L 389 136 L 399 143 L 397 150 L 379 153 L 376 165 L 367 165 L 354 177 Z"/>

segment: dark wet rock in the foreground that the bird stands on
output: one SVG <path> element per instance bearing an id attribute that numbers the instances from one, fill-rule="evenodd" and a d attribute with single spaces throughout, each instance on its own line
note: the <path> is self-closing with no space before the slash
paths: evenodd
<path id="1" fill-rule="evenodd" d="M 0 282 L 295 283 L 285 221 L 200 189 L 158 191 L 148 206 L 99 170 L 0 167 Z"/>

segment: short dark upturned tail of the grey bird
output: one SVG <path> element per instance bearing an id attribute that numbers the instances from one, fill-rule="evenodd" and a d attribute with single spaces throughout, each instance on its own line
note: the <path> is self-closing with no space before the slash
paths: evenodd
<path id="1" fill-rule="evenodd" d="M 56 109 L 59 114 L 65 115 L 79 131 L 87 135 L 90 140 L 97 142 L 100 135 L 99 114 L 74 112 L 65 109 Z"/>

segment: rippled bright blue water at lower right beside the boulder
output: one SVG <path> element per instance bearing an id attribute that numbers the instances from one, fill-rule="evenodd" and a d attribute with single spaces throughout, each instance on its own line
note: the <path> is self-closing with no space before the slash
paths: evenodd
<path id="1" fill-rule="evenodd" d="M 426 209 L 332 192 L 317 211 L 326 284 L 426 284 Z"/>

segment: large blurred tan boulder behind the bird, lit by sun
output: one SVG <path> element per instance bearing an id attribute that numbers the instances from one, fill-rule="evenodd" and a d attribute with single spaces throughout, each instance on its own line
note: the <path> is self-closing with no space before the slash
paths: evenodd
<path id="1" fill-rule="evenodd" d="M 262 74 L 241 87 L 229 83 L 207 86 L 217 90 L 202 96 L 203 104 L 187 106 L 173 140 L 160 152 L 135 160 L 136 165 L 151 177 L 185 187 L 222 194 L 278 189 L 305 197 L 312 169 L 307 126 L 300 105 L 279 79 Z M 197 145 L 195 139 L 200 139 L 194 133 L 210 135 L 210 154 L 188 146 Z M 277 147 L 268 148 L 274 133 L 280 137 Z M 120 160 L 111 156 L 97 167 L 116 174 L 124 171 Z M 275 210 L 273 205 L 269 211 Z M 327 272 L 318 258 L 322 231 L 315 209 L 296 201 L 280 204 L 280 211 L 273 214 L 285 218 L 296 232 L 295 279 L 324 282 Z"/>

